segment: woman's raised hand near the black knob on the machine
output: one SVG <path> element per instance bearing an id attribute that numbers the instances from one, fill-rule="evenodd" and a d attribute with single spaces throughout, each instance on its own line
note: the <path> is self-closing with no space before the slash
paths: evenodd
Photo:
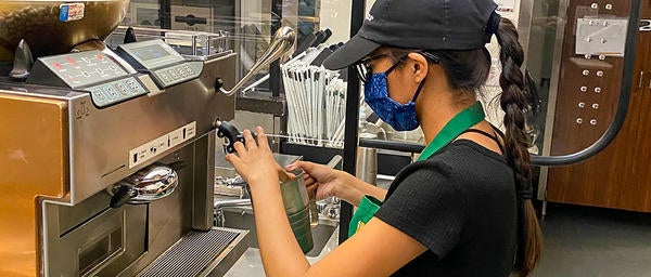
<path id="1" fill-rule="evenodd" d="M 237 142 L 234 148 L 238 155 L 229 154 L 226 160 L 233 164 L 248 185 L 255 185 L 260 180 L 286 182 L 295 177 L 276 162 L 263 128 L 256 128 L 257 143 L 251 135 L 251 131 L 244 130 L 243 134 L 246 147 L 241 142 Z"/>

